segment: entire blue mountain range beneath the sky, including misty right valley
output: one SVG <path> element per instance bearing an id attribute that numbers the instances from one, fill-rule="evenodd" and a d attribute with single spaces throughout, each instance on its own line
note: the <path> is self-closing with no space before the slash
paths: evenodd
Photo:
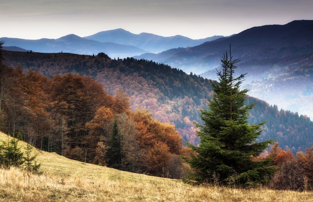
<path id="1" fill-rule="evenodd" d="M 209 79 L 216 79 L 221 56 L 229 51 L 231 44 L 232 56 L 241 60 L 236 73 L 248 73 L 242 86 L 251 89 L 249 95 L 277 104 L 279 108 L 313 117 L 312 20 L 264 25 L 229 37 L 215 36 L 199 40 L 180 35 L 162 37 L 149 33 L 133 34 L 123 29 L 99 32 L 85 38 L 71 34 L 59 39 L 1 40 L 5 41 L 6 46 L 18 46 L 35 52 L 89 55 L 105 52 L 112 58 L 139 55 L 134 58 L 169 64 Z M 213 41 L 204 42 L 206 40 Z M 167 48 L 172 49 L 156 54 Z"/>

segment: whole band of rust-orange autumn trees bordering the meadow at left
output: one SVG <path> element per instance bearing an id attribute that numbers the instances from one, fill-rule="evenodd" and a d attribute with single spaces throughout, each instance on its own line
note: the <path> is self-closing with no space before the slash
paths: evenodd
<path id="1" fill-rule="evenodd" d="M 94 79 L 73 73 L 46 76 L 1 65 L 0 129 L 70 159 L 136 173 L 180 178 L 181 137 L 129 97 L 109 95 Z"/>

